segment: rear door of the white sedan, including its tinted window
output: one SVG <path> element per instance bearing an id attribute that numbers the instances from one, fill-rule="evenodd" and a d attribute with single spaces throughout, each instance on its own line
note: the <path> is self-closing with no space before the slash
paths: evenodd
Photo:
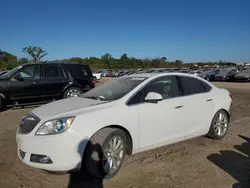
<path id="1" fill-rule="evenodd" d="M 183 120 L 186 124 L 186 137 L 204 134 L 213 117 L 213 97 L 211 87 L 202 80 L 189 76 L 177 76 Z"/>

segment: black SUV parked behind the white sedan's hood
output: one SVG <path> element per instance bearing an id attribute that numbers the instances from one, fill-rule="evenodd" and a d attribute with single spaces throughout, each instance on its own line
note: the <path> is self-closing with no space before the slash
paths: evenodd
<path id="1" fill-rule="evenodd" d="M 88 65 L 39 63 L 20 65 L 0 76 L 0 109 L 78 96 L 95 87 Z"/>

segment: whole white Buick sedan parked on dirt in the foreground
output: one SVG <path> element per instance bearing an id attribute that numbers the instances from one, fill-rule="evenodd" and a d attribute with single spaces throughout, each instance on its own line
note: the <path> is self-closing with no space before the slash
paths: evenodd
<path id="1" fill-rule="evenodd" d="M 84 167 L 111 178 L 126 154 L 197 136 L 223 138 L 230 93 L 183 73 L 112 79 L 80 97 L 34 109 L 17 130 L 21 161 L 47 171 Z"/>

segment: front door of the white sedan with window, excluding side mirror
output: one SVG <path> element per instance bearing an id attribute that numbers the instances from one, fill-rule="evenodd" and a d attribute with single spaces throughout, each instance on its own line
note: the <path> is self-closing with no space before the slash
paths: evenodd
<path id="1" fill-rule="evenodd" d="M 163 100 L 157 103 L 143 102 L 149 92 L 161 94 Z M 140 150 L 169 144 L 184 138 L 182 104 L 178 95 L 174 76 L 157 78 L 135 95 L 135 98 L 140 98 L 141 101 L 137 104 Z"/>

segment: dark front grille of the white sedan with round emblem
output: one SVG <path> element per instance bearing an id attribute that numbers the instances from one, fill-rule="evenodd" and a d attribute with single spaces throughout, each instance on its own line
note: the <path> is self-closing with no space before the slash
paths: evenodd
<path id="1" fill-rule="evenodd" d="M 25 116 L 21 123 L 19 124 L 18 132 L 21 134 L 28 134 L 30 133 L 35 126 L 39 123 L 40 119 L 33 114 L 28 114 Z"/>

